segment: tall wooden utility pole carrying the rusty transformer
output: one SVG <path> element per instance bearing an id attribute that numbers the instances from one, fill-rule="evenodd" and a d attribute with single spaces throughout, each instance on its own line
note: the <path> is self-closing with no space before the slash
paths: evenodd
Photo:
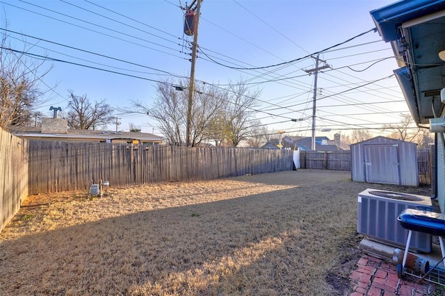
<path id="1" fill-rule="evenodd" d="M 188 6 L 188 9 L 191 9 L 193 4 L 196 0 L 193 0 L 190 6 Z M 193 91 L 195 88 L 195 63 L 196 63 L 196 51 L 197 51 L 197 28 L 199 26 L 200 22 L 200 8 L 201 8 L 201 0 L 197 0 L 196 3 L 196 17 L 195 22 L 196 24 L 193 24 L 195 27 L 194 35 L 193 35 L 193 45 L 192 45 L 192 65 L 190 70 L 190 85 L 188 88 L 188 108 L 187 108 L 187 126 L 186 126 L 186 146 L 191 146 L 191 124 L 192 124 L 192 106 L 193 106 Z"/>

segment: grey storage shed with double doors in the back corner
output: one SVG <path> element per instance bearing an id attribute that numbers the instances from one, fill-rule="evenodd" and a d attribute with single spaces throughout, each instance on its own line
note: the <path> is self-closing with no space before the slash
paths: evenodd
<path id="1" fill-rule="evenodd" d="M 417 145 L 375 137 L 350 145 L 353 181 L 419 186 Z"/>

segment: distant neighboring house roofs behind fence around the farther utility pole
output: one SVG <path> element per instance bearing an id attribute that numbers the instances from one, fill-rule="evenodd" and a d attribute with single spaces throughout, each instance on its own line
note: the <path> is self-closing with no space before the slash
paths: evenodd
<path id="1" fill-rule="evenodd" d="M 266 145 L 261 148 L 265 149 L 280 149 L 278 145 L 280 144 L 280 139 L 271 139 Z M 312 147 L 311 137 L 299 137 L 286 135 L 282 140 L 283 148 L 290 148 L 293 150 L 300 149 L 301 151 L 310 151 Z M 315 138 L 315 149 L 316 151 L 341 151 L 339 146 L 334 145 L 332 140 L 323 136 Z"/>

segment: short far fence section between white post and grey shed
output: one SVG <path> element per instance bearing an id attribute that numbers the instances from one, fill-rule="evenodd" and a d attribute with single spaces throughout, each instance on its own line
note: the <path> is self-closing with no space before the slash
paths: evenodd
<path id="1" fill-rule="evenodd" d="M 300 168 L 350 170 L 350 151 L 300 151 Z"/>

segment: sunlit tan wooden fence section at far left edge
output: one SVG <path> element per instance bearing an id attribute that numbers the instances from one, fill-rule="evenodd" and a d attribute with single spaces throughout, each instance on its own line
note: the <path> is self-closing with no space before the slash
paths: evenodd
<path id="1" fill-rule="evenodd" d="M 28 196 L 27 143 L 0 129 L 0 231 Z"/>

